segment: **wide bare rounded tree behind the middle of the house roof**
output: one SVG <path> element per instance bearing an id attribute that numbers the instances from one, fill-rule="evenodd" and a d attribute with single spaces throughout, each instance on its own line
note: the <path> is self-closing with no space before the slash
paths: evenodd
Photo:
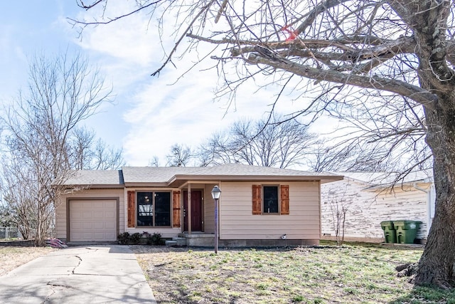
<path id="1" fill-rule="evenodd" d="M 315 136 L 295 119 L 240 120 L 228 132 L 215 133 L 200 145 L 203 164 L 240 162 L 263 167 L 301 166 L 308 160 Z"/>

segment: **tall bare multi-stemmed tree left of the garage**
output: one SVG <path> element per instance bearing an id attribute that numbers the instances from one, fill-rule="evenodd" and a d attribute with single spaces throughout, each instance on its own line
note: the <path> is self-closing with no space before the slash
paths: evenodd
<path id="1" fill-rule="evenodd" d="M 73 131 L 109 100 L 110 93 L 98 71 L 90 70 L 81 56 L 36 56 L 28 91 L 6 109 L 2 192 L 16 210 L 27 208 L 23 220 L 33 228 L 37 246 L 45 244 L 61 190 L 58 185 L 72 168 Z"/>

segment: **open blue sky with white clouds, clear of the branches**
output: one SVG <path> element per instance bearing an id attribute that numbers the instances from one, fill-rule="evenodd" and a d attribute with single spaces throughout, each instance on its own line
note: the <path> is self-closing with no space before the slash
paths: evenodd
<path id="1" fill-rule="evenodd" d="M 122 5 L 124 1 L 116 2 L 114 9 L 122 11 Z M 210 59 L 188 73 L 191 56 L 176 60 L 176 68 L 168 65 L 159 77 L 151 77 L 163 62 L 163 48 L 149 16 L 137 14 L 86 28 L 81 38 L 67 17 L 82 19 L 90 14 L 97 12 L 83 11 L 72 0 L 4 1 L 0 10 L 1 102 L 8 103 L 26 87 L 28 58 L 34 53 L 52 57 L 67 49 L 80 51 L 100 68 L 116 96 L 113 104 L 105 105 L 86 124 L 108 145 L 123 147 L 124 158 L 132 166 L 146 166 L 154 155 L 165 165 L 165 155 L 174 143 L 196 147 L 235 120 L 264 117 L 270 110 L 274 88 L 244 88 L 235 105 L 228 106 L 227 100 L 214 102 L 216 71 L 205 70 L 215 64 Z M 173 42 L 165 43 L 170 50 Z M 284 112 L 296 108 L 290 100 L 280 106 Z"/>

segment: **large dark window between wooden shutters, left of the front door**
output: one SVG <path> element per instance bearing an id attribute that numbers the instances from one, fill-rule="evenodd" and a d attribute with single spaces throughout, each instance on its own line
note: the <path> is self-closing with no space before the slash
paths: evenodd
<path id="1" fill-rule="evenodd" d="M 137 192 L 137 226 L 171 226 L 171 192 Z"/>

